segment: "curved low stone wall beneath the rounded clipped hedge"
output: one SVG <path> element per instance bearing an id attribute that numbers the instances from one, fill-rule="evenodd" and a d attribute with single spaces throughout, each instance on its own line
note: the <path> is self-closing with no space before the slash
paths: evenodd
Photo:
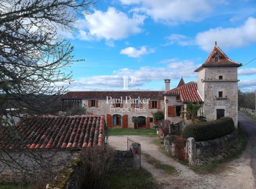
<path id="1" fill-rule="evenodd" d="M 221 138 L 195 142 L 196 146 L 196 159 L 209 157 L 221 153 L 231 148 L 234 142 L 237 141 L 237 130 L 232 133 L 225 135 Z"/>

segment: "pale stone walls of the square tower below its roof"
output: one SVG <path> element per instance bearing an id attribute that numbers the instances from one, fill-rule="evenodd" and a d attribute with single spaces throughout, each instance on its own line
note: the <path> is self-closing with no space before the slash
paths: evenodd
<path id="1" fill-rule="evenodd" d="M 220 80 L 219 76 L 223 78 Z M 203 98 L 203 113 L 208 120 L 216 120 L 217 109 L 224 109 L 225 117 L 231 117 L 237 127 L 237 82 L 237 67 L 205 67 L 198 72 L 198 92 Z"/>

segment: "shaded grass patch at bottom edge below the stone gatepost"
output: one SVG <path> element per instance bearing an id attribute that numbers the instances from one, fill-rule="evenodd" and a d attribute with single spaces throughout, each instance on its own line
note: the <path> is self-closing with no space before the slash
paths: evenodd
<path id="1" fill-rule="evenodd" d="M 107 175 L 109 189 L 159 189 L 151 173 L 145 169 L 137 171 L 111 171 Z"/>

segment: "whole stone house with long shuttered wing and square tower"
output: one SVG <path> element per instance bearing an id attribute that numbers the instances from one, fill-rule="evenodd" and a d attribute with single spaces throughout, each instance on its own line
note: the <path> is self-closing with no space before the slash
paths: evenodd
<path id="1" fill-rule="evenodd" d="M 232 61 L 215 44 L 206 61 L 195 70 L 198 82 L 185 83 L 170 89 L 170 80 L 164 80 L 165 91 L 81 91 L 68 92 L 62 97 L 63 111 L 73 107 L 86 107 L 92 114 L 103 114 L 108 127 L 134 128 L 132 117 L 141 117 L 140 128 L 152 128 L 153 113 L 164 112 L 164 118 L 173 123 L 186 117 L 186 103 L 203 103 L 198 115 L 208 120 L 220 117 L 233 118 L 237 126 L 238 90 L 237 67 L 242 64 Z"/>

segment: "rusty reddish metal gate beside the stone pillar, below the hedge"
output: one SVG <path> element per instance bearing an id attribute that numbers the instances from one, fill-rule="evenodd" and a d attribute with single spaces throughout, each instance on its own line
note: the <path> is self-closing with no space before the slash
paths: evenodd
<path id="1" fill-rule="evenodd" d="M 181 136 L 174 136 L 174 156 L 183 161 L 188 161 L 187 139 Z"/>

